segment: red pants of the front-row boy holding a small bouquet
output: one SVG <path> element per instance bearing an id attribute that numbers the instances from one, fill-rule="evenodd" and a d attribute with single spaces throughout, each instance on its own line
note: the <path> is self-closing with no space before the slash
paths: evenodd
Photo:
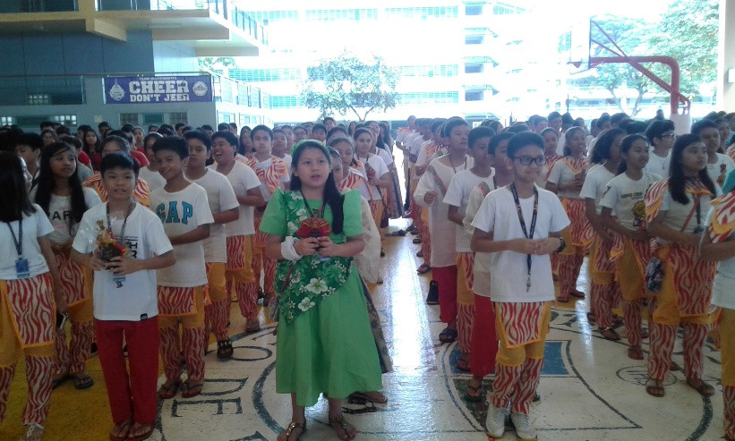
<path id="1" fill-rule="evenodd" d="M 158 414 L 158 319 L 95 319 L 94 322 L 99 363 L 107 385 L 107 399 L 113 422 L 154 422 Z M 128 346 L 130 373 L 125 369 L 123 338 Z"/>

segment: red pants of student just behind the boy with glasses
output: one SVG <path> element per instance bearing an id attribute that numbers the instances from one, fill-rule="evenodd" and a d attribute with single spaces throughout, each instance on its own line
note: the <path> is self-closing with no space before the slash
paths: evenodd
<path id="1" fill-rule="evenodd" d="M 495 310 L 490 297 L 474 294 L 474 323 L 470 343 L 470 370 L 474 377 L 484 377 L 495 369 L 498 337 L 495 335 Z"/>

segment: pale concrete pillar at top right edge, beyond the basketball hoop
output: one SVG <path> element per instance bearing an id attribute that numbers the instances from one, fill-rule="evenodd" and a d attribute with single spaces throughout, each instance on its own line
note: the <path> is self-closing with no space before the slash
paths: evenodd
<path id="1" fill-rule="evenodd" d="M 735 0 L 720 0 L 717 109 L 735 112 Z"/>

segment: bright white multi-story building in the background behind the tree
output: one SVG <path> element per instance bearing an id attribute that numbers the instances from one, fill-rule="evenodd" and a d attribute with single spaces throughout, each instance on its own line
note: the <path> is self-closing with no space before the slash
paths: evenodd
<path id="1" fill-rule="evenodd" d="M 540 18 L 526 4 L 532 2 L 355 0 L 316 6 L 276 0 L 249 11 L 269 30 L 270 52 L 230 69 L 229 76 L 269 91 L 279 122 L 318 116 L 299 100 L 306 66 L 344 50 L 381 55 L 401 72 L 396 108 L 370 117 L 508 119 L 559 110 L 566 100 L 560 79 L 568 69 L 559 62 L 557 42 L 529 32 Z"/>

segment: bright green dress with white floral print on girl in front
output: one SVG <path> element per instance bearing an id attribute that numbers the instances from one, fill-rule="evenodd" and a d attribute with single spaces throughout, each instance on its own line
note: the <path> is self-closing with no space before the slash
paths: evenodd
<path id="1" fill-rule="evenodd" d="M 308 202 L 310 208 L 321 206 L 321 200 Z M 346 192 L 343 211 L 343 233 L 329 235 L 335 243 L 343 243 L 346 237 L 363 233 L 358 191 Z M 278 190 L 270 198 L 263 214 L 261 232 L 295 235 L 307 213 L 300 192 Z M 325 208 L 324 218 L 331 225 L 329 205 Z M 299 302 L 295 309 L 291 309 L 292 316 L 288 319 L 282 303 L 278 325 L 276 391 L 279 394 L 296 394 L 299 406 L 312 406 L 322 392 L 328 393 L 329 398 L 340 399 L 355 391 L 382 388 L 378 352 L 357 269 L 352 259 L 331 259 L 325 263 L 318 263 L 318 259 L 316 255 L 299 259 L 297 265 L 302 271 L 298 276 L 292 273 L 286 291 L 312 293 L 316 286 L 322 295 L 318 299 Z M 275 281 L 277 290 L 281 290 L 287 272 L 284 269 L 287 270 L 290 264 L 279 260 Z M 310 267 L 316 268 L 313 274 L 308 274 Z M 321 284 L 322 276 L 332 270 L 333 275 L 325 277 L 326 286 Z M 336 285 L 337 289 L 329 289 Z"/>

